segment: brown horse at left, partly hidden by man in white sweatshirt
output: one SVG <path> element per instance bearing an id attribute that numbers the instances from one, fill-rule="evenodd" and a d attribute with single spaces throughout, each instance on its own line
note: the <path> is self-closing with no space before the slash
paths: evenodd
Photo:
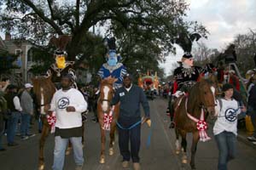
<path id="1" fill-rule="evenodd" d="M 43 129 L 39 142 L 39 163 L 38 169 L 44 169 L 44 144 L 49 135 L 49 123 L 47 122 L 46 112 L 44 107 L 50 104 L 50 101 L 55 94 L 55 84 L 51 82 L 50 77 L 34 77 L 32 78 L 33 91 L 36 94 L 38 105 L 40 106 L 41 121 L 43 122 Z"/>

